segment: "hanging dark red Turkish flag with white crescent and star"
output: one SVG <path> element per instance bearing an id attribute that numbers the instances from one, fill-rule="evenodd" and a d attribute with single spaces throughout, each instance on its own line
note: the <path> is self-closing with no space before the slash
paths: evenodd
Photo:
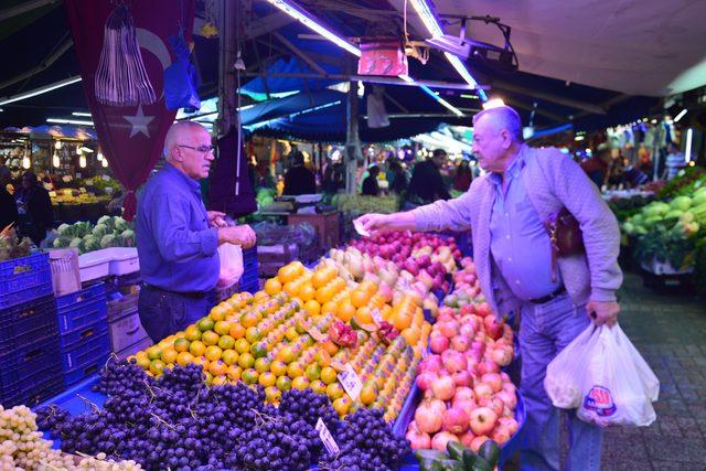
<path id="1" fill-rule="evenodd" d="M 125 218 L 135 216 L 135 191 L 145 183 L 162 154 L 164 136 L 176 111 L 164 106 L 163 72 L 175 58 L 168 38 L 184 28 L 191 41 L 195 0 L 140 0 L 129 2 L 142 61 L 154 88 L 157 101 L 140 106 L 107 106 L 98 103 L 95 75 L 100 61 L 106 19 L 116 2 L 109 0 L 64 0 L 84 92 L 104 156 L 120 183 L 128 190 Z"/>

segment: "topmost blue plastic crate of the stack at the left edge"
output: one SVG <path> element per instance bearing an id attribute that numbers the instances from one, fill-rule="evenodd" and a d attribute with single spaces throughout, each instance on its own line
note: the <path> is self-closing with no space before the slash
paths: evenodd
<path id="1" fill-rule="evenodd" d="M 0 309 L 53 293 L 47 254 L 0 263 Z"/>

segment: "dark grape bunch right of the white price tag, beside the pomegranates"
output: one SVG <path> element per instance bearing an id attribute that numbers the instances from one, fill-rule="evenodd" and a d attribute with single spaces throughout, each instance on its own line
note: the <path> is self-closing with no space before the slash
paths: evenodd
<path id="1" fill-rule="evenodd" d="M 321 468 L 340 471 L 387 471 L 399 468 L 410 452 L 406 439 L 395 437 L 381 409 L 357 409 L 343 420 L 334 438 L 340 453 L 323 453 Z"/>

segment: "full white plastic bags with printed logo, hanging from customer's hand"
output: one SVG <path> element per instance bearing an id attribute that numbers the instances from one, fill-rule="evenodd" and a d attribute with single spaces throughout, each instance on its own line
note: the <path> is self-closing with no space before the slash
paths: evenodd
<path id="1" fill-rule="evenodd" d="M 544 387 L 554 406 L 600 427 L 656 419 L 660 383 L 618 324 L 589 325 L 549 363 Z"/>

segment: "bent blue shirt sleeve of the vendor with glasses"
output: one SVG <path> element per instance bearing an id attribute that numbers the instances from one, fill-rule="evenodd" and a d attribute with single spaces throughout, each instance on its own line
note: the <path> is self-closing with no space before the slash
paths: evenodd
<path id="1" fill-rule="evenodd" d="M 189 225 L 189 202 L 169 195 L 153 201 L 151 229 L 159 251 L 167 261 L 189 261 L 211 257 L 218 248 L 215 227 L 193 231 Z"/>

